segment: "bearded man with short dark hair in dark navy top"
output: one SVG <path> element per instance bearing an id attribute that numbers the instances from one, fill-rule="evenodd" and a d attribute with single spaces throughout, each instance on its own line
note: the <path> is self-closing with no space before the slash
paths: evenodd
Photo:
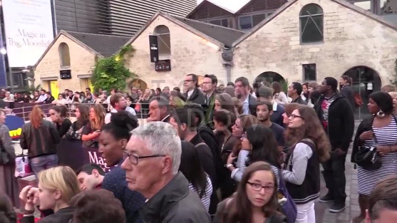
<path id="1" fill-rule="evenodd" d="M 273 113 L 273 105 L 268 102 L 257 102 L 257 117 L 261 125 L 270 128 L 274 138 L 277 141 L 279 151 L 282 151 L 285 145 L 284 128 L 270 121 L 270 115 Z"/>

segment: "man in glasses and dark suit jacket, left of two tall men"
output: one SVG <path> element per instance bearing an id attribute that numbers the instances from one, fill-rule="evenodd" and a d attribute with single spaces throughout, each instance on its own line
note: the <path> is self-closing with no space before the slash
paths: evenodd
<path id="1" fill-rule="evenodd" d="M 198 89 L 199 87 L 199 78 L 196 74 L 188 74 L 183 81 L 183 87 L 186 90 L 184 94 L 187 102 L 192 102 L 195 104 L 199 104 L 203 106 L 205 104 L 205 96 Z"/>

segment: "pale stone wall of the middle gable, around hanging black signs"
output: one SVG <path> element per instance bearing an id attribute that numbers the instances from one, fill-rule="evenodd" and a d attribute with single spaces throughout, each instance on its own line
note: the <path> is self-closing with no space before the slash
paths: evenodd
<path id="1" fill-rule="evenodd" d="M 150 62 L 149 35 L 158 25 L 165 25 L 170 30 L 171 55 L 160 56 L 159 59 L 171 59 L 171 71 L 155 71 L 154 63 Z M 127 67 L 149 88 L 169 86 L 172 89 L 178 86 L 182 89 L 183 78 L 189 73 L 215 74 L 219 84 L 226 81 L 220 48 L 161 15 L 132 42 L 132 46 L 136 51 Z"/>

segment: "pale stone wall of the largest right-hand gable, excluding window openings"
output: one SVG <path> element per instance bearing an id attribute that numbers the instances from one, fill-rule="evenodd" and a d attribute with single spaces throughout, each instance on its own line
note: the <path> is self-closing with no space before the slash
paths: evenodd
<path id="1" fill-rule="evenodd" d="M 300 44 L 299 13 L 316 3 L 324 10 L 324 43 Z M 302 64 L 317 64 L 317 82 L 354 66 L 376 70 L 390 83 L 397 58 L 397 32 L 332 0 L 298 0 L 236 46 L 232 80 L 273 71 L 302 81 Z"/>

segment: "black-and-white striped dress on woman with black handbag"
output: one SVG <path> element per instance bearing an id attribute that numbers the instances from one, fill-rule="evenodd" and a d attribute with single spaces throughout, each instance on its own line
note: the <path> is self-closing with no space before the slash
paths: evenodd
<path id="1" fill-rule="evenodd" d="M 383 128 L 373 128 L 376 140 L 380 146 L 394 146 L 397 144 L 397 123 L 394 118 L 390 124 Z M 365 140 L 365 146 L 376 146 L 374 139 Z M 375 184 L 383 178 L 397 173 L 397 152 L 388 153 L 382 156 L 382 167 L 376 170 L 366 170 L 358 167 L 357 192 L 362 195 L 369 195 Z"/>

